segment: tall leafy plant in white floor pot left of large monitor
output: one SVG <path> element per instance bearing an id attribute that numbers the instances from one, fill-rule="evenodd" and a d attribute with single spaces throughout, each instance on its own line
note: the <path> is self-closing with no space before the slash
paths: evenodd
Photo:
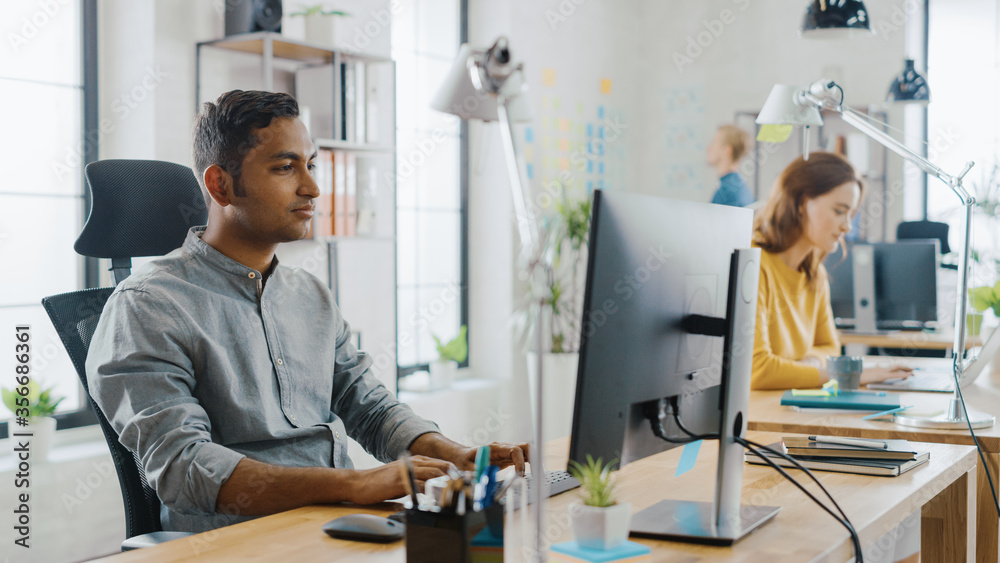
<path id="1" fill-rule="evenodd" d="M 570 200 L 563 197 L 556 202 L 554 211 L 542 218 L 542 260 L 552 272 L 543 296 L 548 323 L 542 329 L 545 331 L 542 349 L 538 350 L 536 344 L 538 296 L 529 294 L 524 298 L 512 323 L 515 334 L 523 339 L 528 349 L 528 395 L 532 402 L 535 400 L 537 354 L 542 354 L 546 413 L 542 435 L 545 440 L 568 435 L 573 418 L 591 205 L 590 198 Z"/>

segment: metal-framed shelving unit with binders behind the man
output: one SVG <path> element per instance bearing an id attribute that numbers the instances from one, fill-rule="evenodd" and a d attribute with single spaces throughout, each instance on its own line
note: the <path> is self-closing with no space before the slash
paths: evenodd
<path id="1" fill-rule="evenodd" d="M 374 217 L 367 223 L 371 225 L 371 232 L 351 236 L 338 234 L 333 230 L 336 217 L 328 216 L 330 220 L 326 224 L 331 226 L 331 231 L 322 233 L 314 218 L 314 237 L 289 245 L 297 245 L 294 248 L 298 250 L 293 254 L 307 251 L 309 244 L 322 245 L 322 253 L 313 251 L 310 256 L 314 259 L 325 257 L 327 281 L 344 317 L 356 332 L 364 334 L 363 340 L 369 347 L 376 348 L 372 352 L 382 352 L 378 349 L 381 348 L 379 343 L 391 342 L 395 357 L 395 62 L 390 58 L 313 45 L 274 32 L 247 33 L 198 43 L 195 59 L 198 107 L 203 101 L 214 100 L 222 92 L 235 88 L 285 91 L 296 96 L 300 108 L 309 108 L 303 117 L 310 119 L 317 150 L 343 153 L 345 162 L 346 155 L 357 160 L 357 197 L 362 196 L 363 189 L 367 190 L 365 193 L 374 192 L 364 200 L 374 206 L 372 215 L 366 215 Z M 360 96 L 363 97 L 359 100 Z M 367 178 L 364 185 L 362 177 Z M 340 196 L 333 191 L 333 173 L 329 177 L 318 176 L 317 180 L 331 204 L 340 205 Z M 327 182 L 330 185 L 326 185 Z M 343 209 L 350 210 L 346 202 L 344 199 Z M 359 215 L 355 211 L 355 221 Z M 341 271 L 349 275 L 340 276 Z M 321 274 L 320 271 L 314 273 Z M 357 339 L 361 340 L 360 336 Z M 394 389 L 395 362 L 384 371 L 380 373 L 376 369 L 376 375 Z"/>

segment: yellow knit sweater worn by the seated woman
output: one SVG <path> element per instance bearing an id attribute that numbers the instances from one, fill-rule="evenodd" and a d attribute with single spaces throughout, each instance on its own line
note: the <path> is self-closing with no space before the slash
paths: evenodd
<path id="1" fill-rule="evenodd" d="M 830 281 L 821 265 L 814 284 L 777 254 L 761 251 L 757 331 L 753 351 L 753 389 L 802 389 L 819 386 L 819 370 L 807 357 L 825 364 L 840 355 L 830 308 Z"/>

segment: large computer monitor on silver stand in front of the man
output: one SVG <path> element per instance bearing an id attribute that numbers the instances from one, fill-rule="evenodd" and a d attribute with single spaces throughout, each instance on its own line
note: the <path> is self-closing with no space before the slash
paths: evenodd
<path id="1" fill-rule="evenodd" d="M 760 251 L 747 209 L 594 191 L 570 460 L 620 465 L 678 444 L 665 408 L 720 436 L 714 502 L 665 499 L 632 535 L 731 544 L 774 507 L 741 507 Z M 685 438 L 672 418 L 662 434 Z"/>

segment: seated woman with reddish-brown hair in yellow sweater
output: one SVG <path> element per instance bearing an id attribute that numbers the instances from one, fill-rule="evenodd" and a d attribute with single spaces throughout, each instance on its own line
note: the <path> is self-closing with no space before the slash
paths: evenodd
<path id="1" fill-rule="evenodd" d="M 781 173 L 754 221 L 761 248 L 753 389 L 818 387 L 826 356 L 840 355 L 823 258 L 851 230 L 864 184 L 843 157 L 812 153 Z M 861 384 L 909 375 L 907 368 L 865 368 Z"/>

